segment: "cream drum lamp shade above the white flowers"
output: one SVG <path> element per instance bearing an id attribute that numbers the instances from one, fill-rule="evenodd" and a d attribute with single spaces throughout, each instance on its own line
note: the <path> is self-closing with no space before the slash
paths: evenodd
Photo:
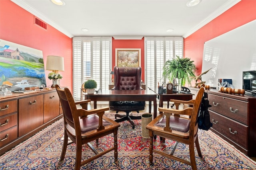
<path id="1" fill-rule="evenodd" d="M 64 71 L 64 58 L 54 55 L 48 55 L 46 61 L 46 70 Z"/>

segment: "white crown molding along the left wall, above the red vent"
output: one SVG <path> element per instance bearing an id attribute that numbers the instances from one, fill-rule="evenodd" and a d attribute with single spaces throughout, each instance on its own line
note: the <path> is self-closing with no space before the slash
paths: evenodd
<path id="1" fill-rule="evenodd" d="M 17 4 L 18 6 L 20 6 L 21 8 L 23 8 L 24 10 L 30 12 L 34 16 L 38 17 L 40 20 L 48 23 L 50 26 L 54 27 L 58 31 L 64 33 L 66 36 L 68 36 L 70 38 L 74 37 L 74 35 L 70 34 L 68 31 L 66 31 L 59 25 L 57 25 L 54 21 L 49 20 L 49 18 L 47 18 L 46 16 L 44 16 L 43 14 L 38 12 L 36 9 L 29 6 L 25 1 L 23 1 L 23 0 L 11 0 L 11 1 L 14 2 L 15 4 Z"/>

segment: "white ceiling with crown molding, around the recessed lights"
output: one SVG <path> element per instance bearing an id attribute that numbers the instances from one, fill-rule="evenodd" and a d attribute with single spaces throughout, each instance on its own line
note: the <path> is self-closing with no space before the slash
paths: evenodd
<path id="1" fill-rule="evenodd" d="M 68 37 L 74 36 L 183 36 L 228 10 L 240 0 L 12 0 Z M 88 32 L 81 31 L 89 29 Z M 166 32 L 167 29 L 174 29 Z"/>

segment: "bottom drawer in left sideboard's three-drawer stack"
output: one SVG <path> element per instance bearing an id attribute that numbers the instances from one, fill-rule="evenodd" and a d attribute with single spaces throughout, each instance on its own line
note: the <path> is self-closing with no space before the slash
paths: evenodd
<path id="1" fill-rule="evenodd" d="M 18 137 L 18 126 L 0 132 L 0 148 Z"/>

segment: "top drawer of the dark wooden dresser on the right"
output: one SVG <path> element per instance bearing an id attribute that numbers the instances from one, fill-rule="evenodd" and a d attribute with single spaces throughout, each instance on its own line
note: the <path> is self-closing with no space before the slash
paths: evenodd
<path id="1" fill-rule="evenodd" d="M 248 125 L 248 102 L 208 94 L 210 110 Z"/>

